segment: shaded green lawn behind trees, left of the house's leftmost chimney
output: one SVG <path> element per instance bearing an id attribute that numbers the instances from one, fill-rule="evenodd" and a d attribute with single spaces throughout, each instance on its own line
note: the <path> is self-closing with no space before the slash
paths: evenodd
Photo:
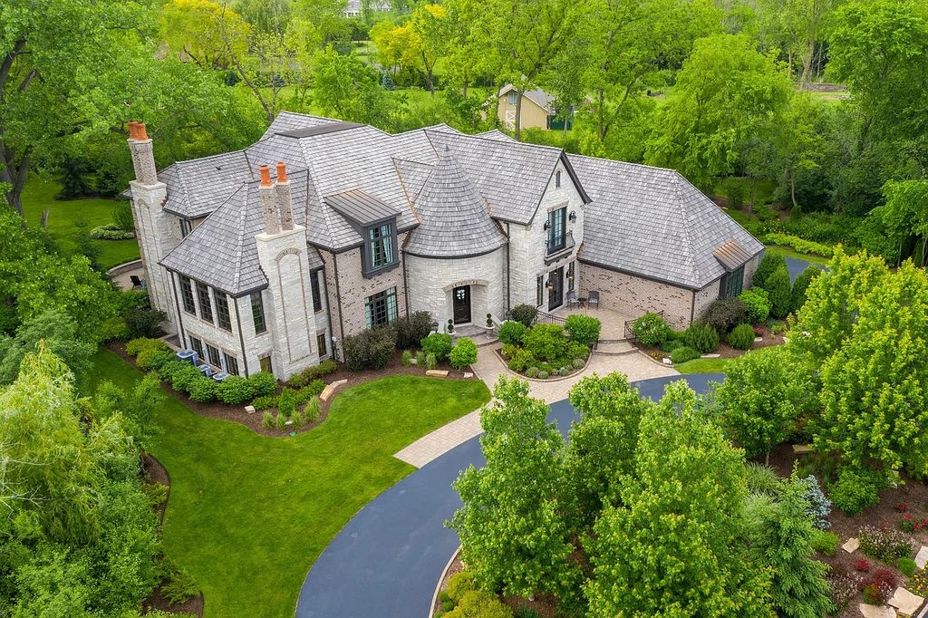
<path id="1" fill-rule="evenodd" d="M 128 152 L 126 153 L 128 157 Z M 55 200 L 61 187 L 50 178 L 32 176 L 22 191 L 22 210 L 29 225 L 41 225 L 42 212 L 50 208 L 48 231 L 58 239 L 64 251 L 74 251 L 74 223 L 84 220 L 88 230 L 112 222 L 116 200 L 87 198 L 84 200 Z M 116 264 L 137 260 L 138 243 L 135 240 L 94 240 L 100 247 L 100 265 L 110 268 Z"/>

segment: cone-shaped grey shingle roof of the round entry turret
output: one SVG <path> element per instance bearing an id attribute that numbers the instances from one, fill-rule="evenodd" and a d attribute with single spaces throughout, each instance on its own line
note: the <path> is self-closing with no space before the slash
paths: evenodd
<path id="1" fill-rule="evenodd" d="M 415 209 L 421 223 L 406 238 L 406 253 L 462 258 L 483 255 L 507 242 L 486 200 L 447 147 L 419 192 Z"/>

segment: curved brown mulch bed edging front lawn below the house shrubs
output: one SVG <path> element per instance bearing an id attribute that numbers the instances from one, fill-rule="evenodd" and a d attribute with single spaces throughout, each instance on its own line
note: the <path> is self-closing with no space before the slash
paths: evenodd
<path id="1" fill-rule="evenodd" d="M 126 354 L 125 344 L 124 343 L 109 343 L 107 347 L 111 352 L 117 354 L 122 358 L 122 360 L 127 363 L 135 366 L 135 358 L 131 355 Z M 464 378 L 464 372 L 459 371 L 448 365 L 447 363 L 439 364 L 438 369 L 445 369 L 448 371 L 447 380 L 478 380 L 476 375 L 471 378 Z M 245 406 L 229 406 L 222 402 L 209 402 L 209 403 L 200 403 L 190 399 L 187 393 L 174 391 L 171 388 L 171 384 L 162 381 L 161 388 L 164 389 L 167 393 L 171 393 L 175 398 L 180 400 L 182 404 L 199 414 L 201 417 L 207 418 L 219 418 L 221 420 L 230 420 L 232 422 L 238 423 L 239 425 L 244 425 L 255 433 L 260 433 L 273 438 L 282 438 L 290 435 L 290 431 L 295 431 L 297 433 L 303 433 L 304 431 L 310 431 L 319 425 L 329 416 L 329 406 L 331 406 L 332 401 L 335 397 L 338 396 L 345 389 L 349 389 L 358 384 L 368 382 L 370 380 L 378 380 L 380 378 L 386 378 L 388 376 L 421 376 L 425 377 L 425 369 L 415 366 L 406 367 L 403 365 L 403 354 L 401 352 L 396 352 L 393 354 L 393 357 L 390 359 L 390 364 L 387 367 L 382 369 L 369 369 L 365 371 L 348 371 L 342 363 L 339 363 L 339 369 L 335 373 L 329 374 L 323 380 L 327 384 L 338 380 L 348 380 L 348 382 L 339 387 L 335 394 L 329 398 L 329 401 L 319 400 L 319 417 L 312 423 L 306 423 L 300 428 L 299 431 L 293 430 L 291 427 L 288 427 L 286 430 L 277 430 L 275 428 L 266 428 L 262 424 L 262 418 L 264 416 L 263 412 L 253 412 L 249 414 L 245 411 Z M 273 410 L 269 410 L 273 411 Z"/>

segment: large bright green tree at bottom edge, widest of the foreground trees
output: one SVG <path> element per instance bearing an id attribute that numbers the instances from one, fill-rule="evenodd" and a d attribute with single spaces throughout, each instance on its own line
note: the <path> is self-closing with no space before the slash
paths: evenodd
<path id="1" fill-rule="evenodd" d="M 741 541 L 743 454 L 695 407 L 677 383 L 641 418 L 622 506 L 585 540 L 588 615 L 772 615 L 770 573 Z"/>

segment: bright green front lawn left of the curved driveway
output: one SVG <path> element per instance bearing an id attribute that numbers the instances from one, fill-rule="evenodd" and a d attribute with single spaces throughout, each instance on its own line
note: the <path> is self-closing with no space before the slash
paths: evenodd
<path id="1" fill-rule="evenodd" d="M 97 380 L 140 373 L 107 350 Z M 173 397 L 151 452 L 171 475 L 165 553 L 201 586 L 207 616 L 292 616 L 303 579 L 358 509 L 415 470 L 392 457 L 489 400 L 483 382 L 396 376 L 337 396 L 329 418 L 267 438 Z"/>

